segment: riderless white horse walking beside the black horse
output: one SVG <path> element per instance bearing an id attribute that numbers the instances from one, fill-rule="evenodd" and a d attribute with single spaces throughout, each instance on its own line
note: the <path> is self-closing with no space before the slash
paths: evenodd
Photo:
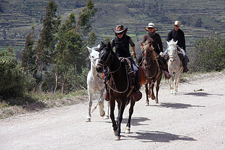
<path id="1" fill-rule="evenodd" d="M 99 113 L 100 116 L 105 116 L 105 118 L 108 118 L 109 110 L 107 111 L 107 114 L 105 114 L 104 111 L 104 98 L 103 98 L 103 92 L 105 89 L 104 81 L 100 77 L 99 73 L 96 71 L 96 62 L 99 59 L 99 52 L 97 51 L 100 46 L 98 47 L 87 47 L 89 51 L 89 58 L 91 61 L 91 69 L 88 72 L 87 75 L 87 90 L 88 90 L 88 102 L 89 102 L 89 107 L 88 107 L 88 117 L 87 117 L 87 122 L 91 121 L 91 106 L 92 106 L 92 100 L 93 100 L 93 95 L 96 92 L 100 92 L 100 98 L 98 101 L 99 105 Z M 95 107 L 96 108 L 96 107 Z M 108 107 L 109 109 L 109 107 Z"/>

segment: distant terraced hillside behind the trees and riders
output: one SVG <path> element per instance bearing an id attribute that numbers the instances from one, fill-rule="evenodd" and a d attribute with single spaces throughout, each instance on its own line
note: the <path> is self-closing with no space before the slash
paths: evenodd
<path id="1" fill-rule="evenodd" d="M 55 0 L 58 14 L 65 20 L 69 13 L 78 14 L 86 0 Z M 128 34 L 139 45 L 146 33 L 144 27 L 154 22 L 166 47 L 167 33 L 175 20 L 182 23 L 187 47 L 193 47 L 196 39 L 219 32 L 225 37 L 224 0 L 93 0 L 98 12 L 92 19 L 97 43 L 106 37 L 114 37 L 112 28 L 117 24 L 128 27 Z M 9 45 L 21 51 L 31 26 L 35 26 L 36 38 L 42 27 L 48 0 L 0 0 L 0 48 Z M 137 46 L 137 48 L 139 48 Z"/>

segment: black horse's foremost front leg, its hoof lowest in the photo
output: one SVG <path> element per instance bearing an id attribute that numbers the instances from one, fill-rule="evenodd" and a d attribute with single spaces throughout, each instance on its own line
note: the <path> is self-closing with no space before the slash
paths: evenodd
<path id="1" fill-rule="evenodd" d="M 119 106 L 119 105 L 118 105 Z M 116 137 L 115 140 L 120 140 L 120 132 L 121 132 L 121 123 L 123 120 L 123 112 L 126 106 L 126 101 L 122 101 L 121 99 L 121 104 L 120 107 L 118 107 L 118 120 L 117 120 L 117 130 L 116 130 Z"/>

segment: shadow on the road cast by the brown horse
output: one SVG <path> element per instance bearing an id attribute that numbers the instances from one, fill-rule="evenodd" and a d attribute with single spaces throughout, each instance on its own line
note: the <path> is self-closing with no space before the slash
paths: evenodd
<path id="1" fill-rule="evenodd" d="M 182 104 L 182 103 L 161 103 L 158 107 L 173 108 L 173 109 L 188 109 L 190 107 L 205 107 L 205 106 Z"/>

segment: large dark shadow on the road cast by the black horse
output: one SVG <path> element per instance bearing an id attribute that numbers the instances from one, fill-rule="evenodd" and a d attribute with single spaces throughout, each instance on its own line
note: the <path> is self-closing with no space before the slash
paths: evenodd
<path id="1" fill-rule="evenodd" d="M 171 142 L 176 140 L 196 141 L 192 137 L 176 135 L 160 131 L 136 132 L 137 135 L 129 136 L 134 139 L 143 140 L 142 142 Z"/>

